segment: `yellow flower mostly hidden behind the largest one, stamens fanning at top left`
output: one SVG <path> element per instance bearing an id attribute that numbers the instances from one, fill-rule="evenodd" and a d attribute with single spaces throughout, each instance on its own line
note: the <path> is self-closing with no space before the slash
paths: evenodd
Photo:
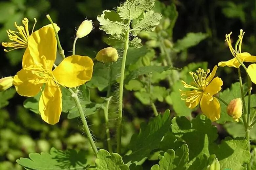
<path id="1" fill-rule="evenodd" d="M 35 24 L 36 24 L 36 19 L 34 18 L 34 20 L 35 20 L 35 23 L 32 28 L 31 34 L 29 33 L 29 27 L 28 27 L 29 20 L 27 18 L 24 18 L 22 20 L 22 24 L 24 26 L 17 25 L 16 22 L 14 23 L 14 25 L 18 31 L 12 31 L 10 29 L 6 30 L 8 37 L 12 42 L 2 42 L 2 46 L 11 47 L 13 49 L 11 49 L 11 50 L 4 49 L 5 52 L 9 52 L 9 51 L 12 51 L 12 50 L 15 50 L 18 48 L 27 48 L 28 47 L 30 35 L 32 35 L 32 33 L 34 31 Z M 54 24 L 54 26 L 56 27 L 57 31 L 60 30 L 60 28 L 56 24 Z M 52 27 L 52 24 L 45 25 L 44 27 Z"/>

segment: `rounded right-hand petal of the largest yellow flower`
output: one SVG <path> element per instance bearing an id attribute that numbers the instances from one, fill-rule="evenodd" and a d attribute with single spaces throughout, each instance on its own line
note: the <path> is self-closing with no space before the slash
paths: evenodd
<path id="1" fill-rule="evenodd" d="M 90 57 L 73 55 L 62 60 L 53 75 L 63 86 L 77 87 L 91 80 L 93 65 Z"/>

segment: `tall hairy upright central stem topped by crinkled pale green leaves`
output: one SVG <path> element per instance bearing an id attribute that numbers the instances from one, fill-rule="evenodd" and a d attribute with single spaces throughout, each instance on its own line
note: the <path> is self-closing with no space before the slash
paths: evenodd
<path id="1" fill-rule="evenodd" d="M 130 24 L 130 21 L 128 22 Z M 123 82 L 124 82 L 124 71 L 127 51 L 129 48 L 129 34 L 130 28 L 127 29 L 125 34 L 124 53 L 121 66 L 121 77 L 119 84 L 119 108 L 118 108 L 118 125 L 117 125 L 117 153 L 121 151 L 121 137 L 122 137 L 122 111 L 123 111 Z"/>

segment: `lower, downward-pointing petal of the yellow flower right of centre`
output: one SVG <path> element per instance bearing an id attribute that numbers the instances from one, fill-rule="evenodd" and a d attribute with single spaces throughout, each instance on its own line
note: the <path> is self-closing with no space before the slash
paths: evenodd
<path id="1" fill-rule="evenodd" d="M 203 114 L 213 122 L 221 117 L 221 105 L 215 97 L 211 101 L 210 98 L 211 96 L 203 94 L 200 107 Z"/>

